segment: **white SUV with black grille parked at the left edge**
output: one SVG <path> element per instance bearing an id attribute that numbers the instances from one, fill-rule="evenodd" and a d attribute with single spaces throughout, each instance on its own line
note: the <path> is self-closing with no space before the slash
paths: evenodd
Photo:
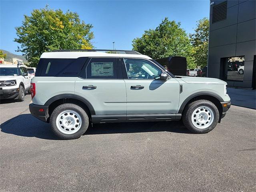
<path id="1" fill-rule="evenodd" d="M 0 99 L 24 101 L 30 92 L 31 76 L 24 65 L 0 65 Z"/>

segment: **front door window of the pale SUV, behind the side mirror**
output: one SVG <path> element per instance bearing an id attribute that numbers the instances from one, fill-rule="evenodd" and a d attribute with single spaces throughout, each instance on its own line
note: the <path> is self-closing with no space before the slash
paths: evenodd
<path id="1" fill-rule="evenodd" d="M 157 66 L 147 60 L 124 59 L 129 79 L 158 79 L 162 73 Z"/>

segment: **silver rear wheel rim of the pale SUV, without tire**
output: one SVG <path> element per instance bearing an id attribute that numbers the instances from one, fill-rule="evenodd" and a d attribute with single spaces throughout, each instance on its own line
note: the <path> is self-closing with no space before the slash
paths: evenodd
<path id="1" fill-rule="evenodd" d="M 76 111 L 65 110 L 57 116 L 56 126 L 64 134 L 74 134 L 81 128 L 82 118 Z"/>

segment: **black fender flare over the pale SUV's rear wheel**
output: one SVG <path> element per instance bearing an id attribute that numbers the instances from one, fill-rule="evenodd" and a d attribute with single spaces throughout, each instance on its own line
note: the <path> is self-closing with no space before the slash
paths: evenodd
<path id="1" fill-rule="evenodd" d="M 75 94 L 59 94 L 56 96 L 53 96 L 52 98 L 48 99 L 44 105 L 49 106 L 50 104 L 52 104 L 54 101 L 56 100 L 60 100 L 60 99 L 76 99 L 79 100 L 81 102 L 83 102 L 84 104 L 86 104 L 86 106 L 89 108 L 91 115 L 95 115 L 95 110 L 92 106 L 92 104 L 86 100 L 85 98 L 75 95 Z"/>

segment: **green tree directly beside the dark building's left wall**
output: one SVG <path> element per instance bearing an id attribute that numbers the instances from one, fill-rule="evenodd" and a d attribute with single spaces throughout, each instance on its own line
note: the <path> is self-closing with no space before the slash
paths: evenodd
<path id="1" fill-rule="evenodd" d="M 207 65 L 209 26 L 208 18 L 203 18 L 197 21 L 195 32 L 189 35 L 195 63 L 201 68 Z"/>

